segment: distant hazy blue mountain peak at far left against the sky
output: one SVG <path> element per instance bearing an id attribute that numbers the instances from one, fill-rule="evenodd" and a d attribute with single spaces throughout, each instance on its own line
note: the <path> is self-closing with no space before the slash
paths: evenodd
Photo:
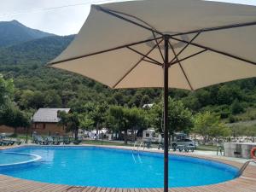
<path id="1" fill-rule="evenodd" d="M 41 32 L 39 30 L 24 26 L 17 20 L 0 21 L 0 47 L 20 44 L 33 39 L 53 35 L 54 34 Z"/>

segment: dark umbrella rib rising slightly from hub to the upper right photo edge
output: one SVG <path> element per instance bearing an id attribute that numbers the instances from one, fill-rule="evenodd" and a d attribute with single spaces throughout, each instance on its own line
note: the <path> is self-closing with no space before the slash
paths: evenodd
<path id="1" fill-rule="evenodd" d="M 232 29 L 232 28 L 243 27 L 243 26 L 256 26 L 256 21 L 247 22 L 247 23 L 232 24 L 232 25 L 228 25 L 228 26 L 214 26 L 214 27 L 203 28 L 203 29 L 200 29 L 200 30 L 194 30 L 194 31 L 190 31 L 190 32 L 179 32 L 179 33 L 173 34 L 171 36 L 175 37 L 175 36 L 181 36 L 181 35 L 188 35 L 188 34 L 195 33 L 195 32 L 212 32 L 212 31 Z"/>

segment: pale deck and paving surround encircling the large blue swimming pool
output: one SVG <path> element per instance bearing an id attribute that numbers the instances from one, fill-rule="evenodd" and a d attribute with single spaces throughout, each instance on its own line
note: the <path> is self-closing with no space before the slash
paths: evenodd
<path id="1" fill-rule="evenodd" d="M 22 146 L 12 146 L 10 148 L 16 147 L 30 147 L 30 146 L 38 146 L 33 144 L 22 145 Z M 48 145 L 50 147 L 51 145 Z M 53 145 L 55 146 L 55 145 Z M 59 146 L 59 147 L 98 147 L 98 148 L 119 148 L 119 149 L 126 149 L 131 150 L 131 147 L 125 146 L 99 146 L 99 145 L 67 145 L 67 146 Z M 3 149 L 3 148 L 2 148 Z M 4 148 L 8 149 L 8 148 Z M 3 149 L 3 150 L 4 150 Z M 1 150 L 1 149 L 0 149 Z M 153 152 L 153 153 L 163 153 L 162 150 L 154 151 L 154 150 L 146 150 L 146 152 Z M 218 159 L 203 155 L 197 155 L 192 153 L 178 153 L 178 152 L 171 152 L 170 154 L 178 154 L 183 156 L 190 156 L 195 158 L 200 158 L 203 160 L 214 160 L 220 163 L 224 163 L 230 166 L 235 166 L 240 168 L 242 166 L 241 163 L 232 161 L 232 160 L 224 160 Z M 235 179 L 223 182 L 223 183 L 216 183 L 204 186 L 197 186 L 197 187 L 181 187 L 181 188 L 170 188 L 172 191 L 188 191 L 188 192 L 203 192 L 203 191 L 234 191 L 234 192 L 246 192 L 246 191 L 255 191 L 256 189 L 256 166 L 248 166 L 247 169 L 242 173 L 240 177 L 236 177 Z M 139 189 L 121 189 L 121 188 L 100 188 L 100 187 L 80 187 L 80 186 L 70 186 L 65 184 L 53 184 L 53 183 L 40 183 L 36 181 L 20 179 L 16 177 L 9 177 L 6 175 L 0 174 L 0 191 L 14 191 L 14 192 L 21 192 L 21 191 L 34 191 L 34 192 L 43 192 L 43 191 L 83 191 L 83 192 L 162 192 L 162 188 L 139 188 Z"/>

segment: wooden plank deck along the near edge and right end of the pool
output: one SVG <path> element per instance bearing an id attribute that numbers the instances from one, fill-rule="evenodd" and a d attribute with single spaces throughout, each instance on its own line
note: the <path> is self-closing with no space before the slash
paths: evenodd
<path id="1" fill-rule="evenodd" d="M 195 155 L 192 155 L 195 156 Z M 199 157 L 199 156 L 197 156 Z M 206 158 L 218 160 L 232 166 L 241 167 L 241 163 L 229 160 L 219 160 L 215 158 Z M 28 181 L 20 178 L 9 177 L 0 174 L 0 191 L 1 192 L 162 192 L 163 189 L 118 189 L 118 188 L 96 188 L 96 187 L 79 187 L 68 186 L 52 183 L 39 183 Z M 190 187 L 190 188 L 172 188 L 173 192 L 256 192 L 256 166 L 248 166 L 241 177 L 224 183 Z"/>

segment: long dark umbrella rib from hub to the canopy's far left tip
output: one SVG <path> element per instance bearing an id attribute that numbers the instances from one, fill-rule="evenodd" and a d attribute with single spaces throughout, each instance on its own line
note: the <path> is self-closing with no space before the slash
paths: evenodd
<path id="1" fill-rule="evenodd" d="M 156 39 L 161 39 L 161 37 L 156 38 Z M 144 43 L 147 43 L 149 41 L 154 41 L 154 38 L 150 38 L 150 39 L 143 40 L 143 41 L 138 41 L 138 42 L 132 43 L 132 44 L 125 44 L 125 45 L 121 45 L 121 46 L 118 46 L 118 47 L 115 47 L 115 48 L 112 48 L 112 49 L 105 49 L 105 50 L 97 51 L 97 52 L 86 54 L 86 55 L 75 56 L 75 57 L 71 57 L 71 58 L 68 58 L 68 59 L 65 59 L 65 60 L 61 60 L 61 61 L 49 62 L 48 64 L 49 65 L 54 65 L 54 64 L 57 64 L 57 63 L 61 63 L 61 62 L 73 61 L 73 60 L 81 59 L 81 58 L 84 58 L 84 57 L 87 57 L 87 56 L 106 53 L 106 52 L 113 51 L 113 50 L 116 50 L 116 49 L 123 49 L 123 48 L 126 48 L 127 46 L 132 46 L 132 45 L 137 45 L 137 44 L 144 44 Z"/>

